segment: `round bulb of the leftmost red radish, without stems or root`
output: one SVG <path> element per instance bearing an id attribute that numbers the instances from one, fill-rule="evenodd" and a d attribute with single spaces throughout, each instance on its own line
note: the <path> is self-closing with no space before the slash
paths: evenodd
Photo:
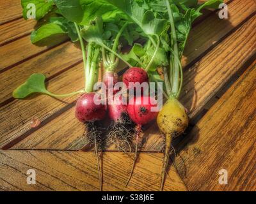
<path id="1" fill-rule="evenodd" d="M 76 118 L 80 122 L 95 122 L 106 116 L 107 106 L 96 105 L 93 101 L 95 93 L 83 94 L 76 103 Z"/>

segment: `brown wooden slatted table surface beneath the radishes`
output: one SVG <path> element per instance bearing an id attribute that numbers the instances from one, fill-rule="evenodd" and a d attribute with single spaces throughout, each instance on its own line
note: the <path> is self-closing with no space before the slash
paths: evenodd
<path id="1" fill-rule="evenodd" d="M 191 126 L 174 141 L 177 155 L 170 162 L 165 191 L 256 190 L 256 3 L 225 2 L 228 19 L 206 11 L 189 36 L 180 99 Z M 98 191 L 95 154 L 84 148 L 84 127 L 74 117 L 77 96 L 12 98 L 13 89 L 32 73 L 43 73 L 52 92 L 83 87 L 79 45 L 63 38 L 36 47 L 29 36 L 35 25 L 23 20 L 20 0 L 1 1 L 0 190 Z M 33 119 L 40 126 L 31 128 Z M 132 160 L 115 147 L 102 152 L 104 191 L 159 189 L 163 136 L 152 124 L 145 127 L 144 138 L 127 188 Z M 27 184 L 29 169 L 36 171 L 35 185 Z M 227 185 L 219 183 L 223 169 Z"/>

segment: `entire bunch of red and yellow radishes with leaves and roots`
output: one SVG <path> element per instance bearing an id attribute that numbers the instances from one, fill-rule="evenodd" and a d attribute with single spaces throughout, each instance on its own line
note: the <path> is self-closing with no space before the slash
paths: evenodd
<path id="1" fill-rule="evenodd" d="M 53 94 L 47 90 L 45 76 L 36 73 L 13 91 L 13 97 L 22 99 L 36 92 L 54 98 L 81 95 L 77 99 L 76 118 L 84 123 L 85 136 L 95 147 L 100 190 L 102 175 L 98 149 L 102 149 L 104 140 L 108 138 L 108 141 L 123 151 L 131 151 L 134 147 L 134 161 L 127 182 L 129 184 L 141 146 L 141 128 L 156 119 L 166 139 L 160 184 L 160 189 L 163 190 L 172 140 L 182 135 L 188 127 L 188 115 L 179 102 L 179 96 L 183 82 L 181 58 L 191 24 L 202 15 L 202 9 L 218 8 L 221 3 L 222 0 L 209 0 L 203 4 L 198 4 L 198 1 L 171 0 L 154 3 L 147 0 L 54 0 L 40 3 L 22 0 L 26 20 L 29 4 L 40 10 L 35 13 L 36 19 L 42 18 L 42 25 L 31 34 L 32 43 L 45 42 L 49 37 L 60 34 L 67 34 L 73 42 L 80 42 L 84 88 L 68 94 Z M 84 41 L 87 42 L 86 47 Z M 125 54 L 121 52 L 124 45 L 132 46 Z M 116 69 L 120 60 L 129 66 L 122 79 L 126 89 L 116 86 L 119 82 Z M 99 64 L 104 66 L 102 78 L 99 77 Z M 159 75 L 158 69 L 163 70 L 163 76 Z M 106 93 L 105 89 L 93 89 L 98 80 L 103 82 Z M 161 91 L 166 103 L 159 113 L 155 110 L 158 107 L 155 96 L 149 96 L 148 90 L 142 88 L 142 85 L 148 85 L 149 82 L 163 84 Z M 128 98 L 127 92 L 128 104 L 124 103 Z M 136 93 L 142 96 L 136 96 Z M 107 103 L 96 103 L 97 100 Z M 104 136 L 100 124 L 107 115 L 112 122 L 107 136 Z"/>

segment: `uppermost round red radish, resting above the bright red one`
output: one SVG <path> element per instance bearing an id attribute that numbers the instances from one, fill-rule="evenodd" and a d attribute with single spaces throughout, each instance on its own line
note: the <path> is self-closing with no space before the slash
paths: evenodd
<path id="1" fill-rule="evenodd" d="M 124 73 L 123 82 L 127 85 L 128 89 L 131 89 L 131 85 L 129 85 L 129 83 L 139 82 L 142 84 L 143 82 L 148 82 L 147 71 L 142 68 L 129 68 Z"/>

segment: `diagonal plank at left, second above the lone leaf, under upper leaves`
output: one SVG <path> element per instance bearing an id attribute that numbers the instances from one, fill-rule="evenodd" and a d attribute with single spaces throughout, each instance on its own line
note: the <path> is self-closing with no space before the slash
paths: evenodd
<path id="1" fill-rule="evenodd" d="M 26 61 L 63 41 L 67 41 L 67 36 L 59 36 L 59 38 L 55 38 L 55 40 L 56 41 L 47 43 L 47 45 L 35 46 L 31 43 L 30 36 L 24 36 L 19 40 L 12 41 L 11 43 L 0 47 L 0 59 L 4 59 L 0 61 L 0 72 L 13 67 L 22 61 Z"/>

